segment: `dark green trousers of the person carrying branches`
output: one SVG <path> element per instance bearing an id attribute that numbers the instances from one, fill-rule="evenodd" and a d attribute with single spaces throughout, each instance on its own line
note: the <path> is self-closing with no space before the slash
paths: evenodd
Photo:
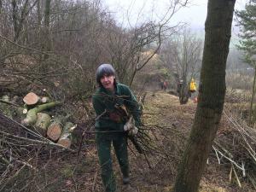
<path id="1" fill-rule="evenodd" d="M 127 137 L 121 135 L 118 137 L 104 137 L 103 133 L 96 134 L 96 144 L 100 166 L 102 169 L 102 182 L 106 192 L 116 192 L 115 177 L 113 175 L 111 144 L 117 159 L 123 177 L 129 177 L 129 161 L 127 151 Z"/>

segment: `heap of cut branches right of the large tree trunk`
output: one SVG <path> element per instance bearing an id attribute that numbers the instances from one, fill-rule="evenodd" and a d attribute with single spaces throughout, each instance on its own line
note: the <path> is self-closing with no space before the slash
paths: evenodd
<path id="1" fill-rule="evenodd" d="M 241 178 L 247 179 L 256 189 L 256 130 L 244 121 L 224 111 L 230 127 L 220 130 L 212 146 L 218 163 L 230 165 L 230 182 L 241 187 Z"/>

